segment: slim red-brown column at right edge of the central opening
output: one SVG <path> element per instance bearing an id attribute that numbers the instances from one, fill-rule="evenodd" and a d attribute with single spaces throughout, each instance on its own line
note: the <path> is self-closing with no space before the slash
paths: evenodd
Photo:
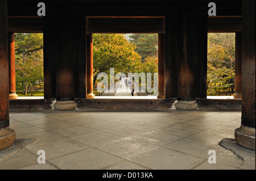
<path id="1" fill-rule="evenodd" d="M 158 99 L 164 96 L 164 34 L 158 33 Z"/>

